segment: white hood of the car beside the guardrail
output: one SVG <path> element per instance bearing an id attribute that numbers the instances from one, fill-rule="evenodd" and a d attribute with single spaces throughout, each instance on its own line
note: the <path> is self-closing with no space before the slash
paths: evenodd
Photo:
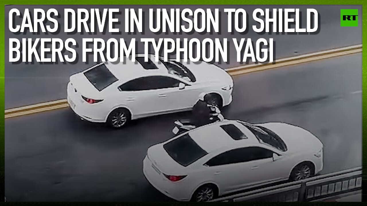
<path id="1" fill-rule="evenodd" d="M 286 144 L 287 152 L 317 152 L 323 147 L 315 135 L 299 126 L 278 122 L 257 125 L 276 133 Z"/>

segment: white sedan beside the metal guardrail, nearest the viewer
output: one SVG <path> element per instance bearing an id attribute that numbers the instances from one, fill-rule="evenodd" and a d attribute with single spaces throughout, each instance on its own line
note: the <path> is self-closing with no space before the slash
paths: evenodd
<path id="1" fill-rule="evenodd" d="M 146 179 L 178 201 L 220 195 L 323 169 L 323 144 L 305 129 L 285 123 L 224 120 L 189 130 L 148 149 Z"/>

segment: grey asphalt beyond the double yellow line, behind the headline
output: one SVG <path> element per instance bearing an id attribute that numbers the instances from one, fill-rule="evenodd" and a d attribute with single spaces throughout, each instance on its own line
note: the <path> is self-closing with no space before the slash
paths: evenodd
<path id="1" fill-rule="evenodd" d="M 75 63 L 10 63 L 8 62 L 8 53 L 5 54 L 5 108 L 14 108 L 25 106 L 28 104 L 35 104 L 40 102 L 47 102 L 51 100 L 63 99 L 66 96 L 66 84 L 69 81 L 69 76 L 73 73 L 77 73 L 87 69 L 89 66 L 94 65 L 93 62 L 84 63 L 81 62 L 81 38 L 124 38 L 128 42 L 131 38 L 198 38 L 203 40 L 204 38 L 228 38 L 228 63 L 218 63 L 223 68 L 238 66 L 239 62 L 236 62 L 236 49 L 232 43 L 232 38 L 251 38 L 252 41 L 256 41 L 258 38 L 274 38 L 275 44 L 275 59 L 289 57 L 297 54 L 305 54 L 310 52 L 317 52 L 321 50 L 345 47 L 349 45 L 362 43 L 362 8 L 360 5 L 175 5 L 174 8 L 219 8 L 219 11 L 223 11 L 223 8 L 244 8 L 248 13 L 248 28 L 255 25 L 255 21 L 252 20 L 252 11 L 255 8 L 300 8 L 301 11 L 301 26 L 306 25 L 306 8 L 315 8 L 319 12 L 319 30 L 312 34 L 295 34 L 295 33 L 255 33 L 252 29 L 248 29 L 246 33 L 228 33 L 227 18 L 224 12 L 221 12 L 221 33 L 220 34 L 201 34 L 201 33 L 152 33 L 148 29 L 149 23 L 149 8 L 172 8 L 167 5 L 9 5 L 5 7 L 5 14 L 8 14 L 11 8 L 18 8 L 22 13 L 25 8 L 29 8 L 33 12 L 33 8 L 43 8 L 47 10 L 49 8 L 56 8 L 59 11 L 61 17 L 58 19 L 60 28 L 63 28 L 63 9 L 64 8 L 120 8 L 121 14 L 117 15 L 120 20 L 124 18 L 124 8 L 143 8 L 145 12 L 145 32 L 144 34 L 111 34 L 111 33 L 73 33 L 66 34 L 63 31 L 52 33 L 11 33 L 8 29 L 8 15 L 5 15 L 5 37 L 8 38 L 61 38 L 66 40 L 67 38 L 74 38 L 79 47 L 76 51 L 79 56 L 79 61 Z M 359 9 L 359 26 L 358 27 L 341 27 L 340 26 L 340 9 Z M 294 18 L 295 15 L 290 15 Z M 22 21 L 21 18 L 16 18 L 15 23 L 18 25 Z M 50 22 L 48 22 L 50 23 Z M 52 25 L 53 26 L 53 25 Z M 123 23 L 118 23 L 116 27 L 124 31 Z M 291 27 L 295 27 L 295 24 L 291 24 Z M 8 48 L 8 41 L 5 41 L 5 48 Z M 138 43 L 137 52 L 143 52 L 143 44 Z M 50 57 L 50 55 L 46 56 Z M 171 56 L 174 58 L 174 56 Z M 89 56 L 92 60 L 92 56 Z"/>

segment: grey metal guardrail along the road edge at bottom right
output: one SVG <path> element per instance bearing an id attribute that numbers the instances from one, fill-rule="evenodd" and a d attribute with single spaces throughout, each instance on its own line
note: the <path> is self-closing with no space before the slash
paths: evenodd
<path id="1" fill-rule="evenodd" d="M 309 202 L 361 190 L 362 167 L 230 195 L 211 202 Z"/>

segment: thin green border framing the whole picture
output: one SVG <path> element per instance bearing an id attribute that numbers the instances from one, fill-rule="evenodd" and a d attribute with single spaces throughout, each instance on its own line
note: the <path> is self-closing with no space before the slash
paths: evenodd
<path id="1" fill-rule="evenodd" d="M 126 4 L 126 5 L 136 5 L 136 4 L 171 4 L 171 5 L 188 5 L 188 4 L 217 4 L 217 5 L 230 5 L 230 4 L 253 4 L 253 5 L 275 5 L 275 4 L 279 4 L 279 5 L 285 5 L 285 4 L 290 4 L 290 5 L 309 5 L 309 4 L 317 4 L 320 5 L 320 3 L 324 4 L 331 4 L 331 5 L 362 5 L 362 32 L 363 32 L 363 37 L 362 37 L 362 43 L 363 43 L 363 39 L 367 39 L 367 9 L 366 6 L 363 5 L 363 3 L 365 3 L 366 1 L 364 0 L 323 0 L 323 1 L 319 1 L 319 0 L 309 0 L 309 1 L 305 1 L 305 0 L 266 0 L 266 1 L 259 1 L 259 0 L 134 0 L 134 1 L 123 1 L 123 0 L 109 0 L 106 1 L 106 3 L 108 4 Z M 57 4 L 86 4 L 86 5 L 91 5 L 91 4 L 101 4 L 100 0 L 61 0 L 58 2 L 52 2 L 55 5 Z M 4 4 L 50 4 L 50 0 L 18 0 L 18 1 L 4 1 Z M 103 4 L 102 4 L 103 5 Z M 1 26 L 1 31 L 5 31 L 5 7 L 3 7 L 3 9 L 1 9 L 1 14 L 0 14 L 2 21 L 0 22 L 0 26 Z M 2 32 L 1 34 L 1 44 L 3 45 L 4 49 L 0 49 L 0 56 L 2 56 L 1 61 L 0 61 L 0 91 L 3 93 L 3 95 L 1 95 L 0 99 L 0 105 L 4 107 L 4 100 L 5 100 L 5 94 L 4 94 L 4 74 L 5 74 L 5 67 L 4 67 L 4 62 L 5 62 L 5 34 L 4 32 Z M 362 77 L 362 89 L 367 89 L 367 80 L 366 80 L 366 75 L 367 75 L 367 53 L 366 53 L 366 49 L 363 48 L 363 77 Z M 363 93 L 362 93 L 363 94 Z M 367 97 L 363 96 L 362 97 L 362 137 L 367 135 Z M 3 115 L 4 110 L 1 110 L 1 114 Z M 3 115 L 4 117 L 4 115 Z M 0 158 L 0 183 L 1 183 L 1 191 L 4 192 L 4 184 L 5 184 L 5 179 L 4 179 L 4 172 L 5 172 L 5 166 L 4 166 L 4 157 L 5 157 L 5 130 L 4 130 L 4 121 L 5 119 L 1 119 L 0 122 L 0 126 L 1 126 L 1 143 L 0 143 L 0 153 L 1 153 L 1 158 Z M 362 154 L 363 157 L 366 157 L 367 155 L 367 139 L 366 138 L 362 138 Z M 362 160 L 362 167 L 363 168 L 367 168 L 367 157 L 366 159 L 363 158 Z M 367 171 L 366 169 L 363 169 L 363 185 L 367 185 Z M 363 192 L 363 200 L 366 201 L 367 199 L 367 195 L 366 192 Z M 1 198 L 3 198 L 3 195 L 1 195 Z M 1 201 L 1 200 L 0 200 Z M 64 205 L 65 203 L 63 203 Z M 265 203 L 262 203 L 265 204 Z M 261 204 L 261 205 L 262 205 Z M 274 204 L 274 203 L 271 203 Z M 299 204 L 299 203 L 298 203 Z M 324 203 L 313 203 L 313 204 L 324 204 Z M 350 204 L 350 203 L 349 203 Z M 119 205 L 119 204 L 116 204 Z M 170 205 L 176 205 L 175 203 L 170 203 Z M 252 204 L 251 204 L 252 205 Z M 260 204 L 254 204 L 254 205 L 260 205 Z"/>

